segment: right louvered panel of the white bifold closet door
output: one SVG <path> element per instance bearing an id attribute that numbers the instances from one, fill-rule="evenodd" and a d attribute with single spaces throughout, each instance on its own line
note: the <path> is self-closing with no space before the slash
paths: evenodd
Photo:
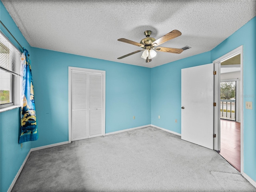
<path id="1" fill-rule="evenodd" d="M 89 74 L 89 138 L 102 135 L 102 74 Z"/>

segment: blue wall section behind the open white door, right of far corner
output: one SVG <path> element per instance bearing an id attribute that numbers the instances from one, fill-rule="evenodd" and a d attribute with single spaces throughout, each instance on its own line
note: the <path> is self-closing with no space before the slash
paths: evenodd
<path id="1" fill-rule="evenodd" d="M 152 68 L 152 125 L 181 133 L 181 69 L 208 63 L 210 63 L 210 52 Z M 160 119 L 158 119 L 159 115 Z"/>

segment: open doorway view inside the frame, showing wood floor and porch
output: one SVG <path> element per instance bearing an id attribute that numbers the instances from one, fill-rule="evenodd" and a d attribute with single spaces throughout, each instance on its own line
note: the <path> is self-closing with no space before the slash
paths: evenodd
<path id="1" fill-rule="evenodd" d="M 220 155 L 241 171 L 240 54 L 220 63 Z"/>

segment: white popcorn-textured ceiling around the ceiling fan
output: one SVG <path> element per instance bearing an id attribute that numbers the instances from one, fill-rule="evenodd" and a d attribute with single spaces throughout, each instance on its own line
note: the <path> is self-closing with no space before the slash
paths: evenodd
<path id="1" fill-rule="evenodd" d="M 2 2 L 32 47 L 150 68 L 210 51 L 256 16 L 255 0 Z M 117 39 L 140 42 L 145 30 L 158 39 L 174 29 L 182 35 L 161 46 L 191 49 L 157 52 L 149 63 L 142 52 L 117 59 L 142 49 Z"/>

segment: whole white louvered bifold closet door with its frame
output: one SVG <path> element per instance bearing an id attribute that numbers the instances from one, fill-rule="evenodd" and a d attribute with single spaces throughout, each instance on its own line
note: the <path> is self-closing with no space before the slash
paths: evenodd
<path id="1" fill-rule="evenodd" d="M 71 108 L 69 141 L 104 135 L 103 74 L 87 72 L 79 68 L 71 69 L 69 75 Z"/>

